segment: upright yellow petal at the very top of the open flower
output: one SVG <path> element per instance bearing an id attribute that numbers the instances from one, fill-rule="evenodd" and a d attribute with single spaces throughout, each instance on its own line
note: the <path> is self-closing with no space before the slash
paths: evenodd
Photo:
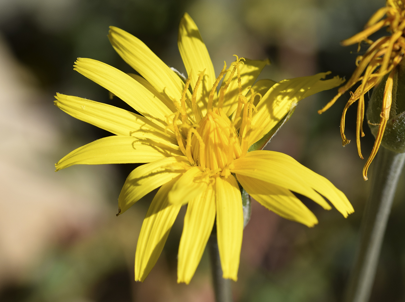
<path id="1" fill-rule="evenodd" d="M 198 74 L 205 70 L 203 80 L 197 91 L 197 100 L 200 100 L 200 108 L 206 110 L 208 96 L 216 76 L 207 47 L 203 38 L 201 38 L 196 23 L 188 13 L 185 13 L 181 18 L 177 45 L 179 46 L 185 70 L 187 70 L 189 76 L 190 74 L 192 76 L 190 81 L 192 89 L 196 85 Z"/>

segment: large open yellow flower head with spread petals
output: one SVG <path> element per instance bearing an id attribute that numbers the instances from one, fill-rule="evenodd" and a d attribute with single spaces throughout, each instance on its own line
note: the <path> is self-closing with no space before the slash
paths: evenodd
<path id="1" fill-rule="evenodd" d="M 291 191 L 330 209 L 322 194 L 345 217 L 353 212 L 341 191 L 292 157 L 273 151 L 247 153 L 299 100 L 336 87 L 341 79 L 322 81 L 327 73 L 320 73 L 279 83 L 266 79 L 255 83 L 268 60 L 238 57 L 229 70 L 224 66 L 216 77 L 207 48 L 188 14 L 181 19 L 178 40 L 188 72 L 185 81 L 124 30 L 111 27 L 109 38 L 117 53 L 142 77 L 83 58 L 77 60 L 75 70 L 141 115 L 57 94 L 55 104 L 63 111 L 116 135 L 72 151 L 56 164 L 56 170 L 74 164 L 147 163 L 130 173 L 118 200 L 118 214 L 122 214 L 160 187 L 139 235 L 136 280 L 143 281 L 149 274 L 180 207 L 187 203 L 178 282 L 190 282 L 215 220 L 223 276 L 237 280 L 243 233 L 238 181 L 269 210 L 308 226 L 318 220 Z M 259 93 L 263 94 L 261 99 Z"/>

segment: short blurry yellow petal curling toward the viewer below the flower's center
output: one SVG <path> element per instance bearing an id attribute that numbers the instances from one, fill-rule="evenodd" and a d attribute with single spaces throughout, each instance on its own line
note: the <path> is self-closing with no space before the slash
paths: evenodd
<path id="1" fill-rule="evenodd" d="M 169 202 L 186 204 L 207 190 L 209 178 L 196 166 L 185 172 L 169 192 Z"/>

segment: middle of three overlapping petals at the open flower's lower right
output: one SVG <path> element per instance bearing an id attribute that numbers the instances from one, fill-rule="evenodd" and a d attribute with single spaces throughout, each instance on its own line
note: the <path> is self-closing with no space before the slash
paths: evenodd
<path id="1" fill-rule="evenodd" d="M 258 151 L 252 151 L 247 153 L 254 153 Z M 275 155 L 271 159 L 256 158 L 254 156 L 245 156 L 234 160 L 234 168 L 231 172 L 237 175 L 241 174 L 248 177 L 253 177 L 278 185 L 297 192 L 308 198 L 311 198 L 316 203 L 320 204 L 325 209 L 330 209 L 330 205 L 316 193 L 299 174 L 299 170 L 295 169 L 295 166 L 289 164 L 284 160 L 283 153 L 273 152 Z M 279 156 L 277 156 L 279 154 Z"/>

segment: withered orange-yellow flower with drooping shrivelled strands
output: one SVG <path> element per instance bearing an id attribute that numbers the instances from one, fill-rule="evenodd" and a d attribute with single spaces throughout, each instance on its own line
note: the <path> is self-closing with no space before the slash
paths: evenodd
<path id="1" fill-rule="evenodd" d="M 385 19 L 382 19 L 386 15 Z M 382 19 L 382 20 L 381 20 Z M 384 36 L 376 41 L 370 40 L 368 37 L 387 26 L 387 30 L 391 33 L 390 36 Z M 354 84 L 361 81 L 360 86 L 354 93 L 350 92 L 350 99 L 347 101 L 340 123 L 340 132 L 343 140 L 343 146 L 347 145 L 350 140 L 345 136 L 345 115 L 347 108 L 350 107 L 356 100 L 359 100 L 357 107 L 357 123 L 356 123 L 356 143 L 358 155 L 361 159 L 363 156 L 360 150 L 360 134 L 363 137 L 363 120 L 364 120 L 364 94 L 371 88 L 377 86 L 384 76 L 388 75 L 384 97 L 382 102 L 382 109 L 380 115 L 380 122 L 378 124 L 378 131 L 375 135 L 375 142 L 370 157 L 363 168 L 364 180 L 367 180 L 367 170 L 377 154 L 378 148 L 381 144 L 384 130 L 387 121 L 390 117 L 390 109 L 392 102 L 392 87 L 393 79 L 396 71 L 396 66 L 401 62 L 405 53 L 405 10 L 404 2 L 402 0 L 387 0 L 386 6 L 382 7 L 371 16 L 369 21 L 364 26 L 364 30 L 342 41 L 343 46 L 358 43 L 358 50 L 360 51 L 360 43 L 365 42 L 370 45 L 364 55 L 359 55 L 356 58 L 357 68 L 354 70 L 352 77 L 345 85 L 339 88 L 338 94 L 322 108 L 318 113 L 323 113 L 336 100 L 344 94 L 347 90 L 353 87 Z M 364 72 L 364 74 L 363 74 Z"/>

